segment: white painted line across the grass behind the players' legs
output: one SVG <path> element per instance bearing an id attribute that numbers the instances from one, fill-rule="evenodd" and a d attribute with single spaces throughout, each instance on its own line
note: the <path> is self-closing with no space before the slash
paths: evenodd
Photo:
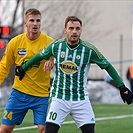
<path id="1" fill-rule="evenodd" d="M 101 117 L 101 118 L 96 118 L 96 121 L 112 120 L 112 119 L 115 120 L 115 119 L 122 119 L 122 118 L 128 118 L 128 117 L 133 117 L 133 114 L 132 115 L 111 116 L 111 117 Z M 75 123 L 75 122 L 74 121 L 65 121 L 63 123 L 63 125 L 72 124 L 72 123 Z M 33 128 L 37 128 L 37 126 L 15 128 L 14 131 L 33 129 Z"/>

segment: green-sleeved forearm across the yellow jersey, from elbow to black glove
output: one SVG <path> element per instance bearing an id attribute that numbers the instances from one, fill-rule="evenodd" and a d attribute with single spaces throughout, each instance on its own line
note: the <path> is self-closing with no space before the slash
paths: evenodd
<path id="1" fill-rule="evenodd" d="M 26 71 L 29 67 L 40 62 L 41 60 L 43 60 L 43 56 L 41 56 L 40 53 L 38 53 L 35 56 L 33 56 L 32 58 L 30 58 L 26 63 L 24 63 L 22 65 L 22 68 L 24 71 Z"/>

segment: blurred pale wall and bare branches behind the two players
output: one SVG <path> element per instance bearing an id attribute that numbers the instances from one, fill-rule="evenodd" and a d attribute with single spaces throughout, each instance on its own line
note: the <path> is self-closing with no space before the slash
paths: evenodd
<path id="1" fill-rule="evenodd" d="M 63 28 L 67 16 L 79 17 L 83 21 L 82 39 L 94 44 L 102 52 L 128 86 L 126 73 L 133 58 L 132 0 L 0 0 L 0 60 L 8 41 L 25 32 L 24 12 L 32 7 L 42 13 L 42 32 L 54 39 L 64 37 Z M 51 72 L 51 79 L 53 75 L 54 70 Z M 96 65 L 91 66 L 88 73 L 89 81 L 99 83 L 106 81 L 107 77 L 104 70 Z M 14 65 L 0 89 L 1 104 L 5 103 L 2 99 L 6 99 L 10 93 L 13 78 Z M 90 88 L 99 88 L 96 82 L 94 84 L 89 81 Z M 109 88 L 103 84 L 104 88 Z M 101 86 L 101 82 L 98 86 Z M 114 89 L 113 93 L 115 90 L 117 91 Z M 95 99 L 94 96 L 92 99 Z"/>

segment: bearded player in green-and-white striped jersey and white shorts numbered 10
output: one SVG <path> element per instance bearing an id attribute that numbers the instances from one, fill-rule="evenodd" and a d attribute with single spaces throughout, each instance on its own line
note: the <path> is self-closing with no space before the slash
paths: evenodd
<path id="1" fill-rule="evenodd" d="M 110 62 L 99 50 L 80 39 L 82 21 L 76 16 L 66 18 L 66 38 L 52 42 L 48 47 L 28 60 L 18 73 L 23 78 L 25 71 L 33 64 L 54 56 L 55 77 L 52 85 L 52 101 L 46 120 L 46 133 L 57 133 L 67 115 L 71 115 L 82 133 L 94 133 L 95 116 L 88 97 L 87 76 L 91 63 L 105 69 L 117 83 L 124 102 L 132 103 L 132 93 L 124 85 Z M 44 70 L 48 70 L 48 64 Z M 24 77 L 25 78 L 25 77 Z"/>

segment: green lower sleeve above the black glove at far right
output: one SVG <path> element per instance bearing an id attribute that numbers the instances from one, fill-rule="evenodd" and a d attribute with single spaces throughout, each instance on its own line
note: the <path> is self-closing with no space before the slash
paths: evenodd
<path id="1" fill-rule="evenodd" d="M 121 87 L 124 85 L 122 79 L 118 75 L 115 68 L 109 63 L 109 65 L 105 68 L 105 70 L 108 72 L 108 74 L 112 77 L 112 79 L 115 81 L 115 83 L 118 85 L 118 87 Z"/>

